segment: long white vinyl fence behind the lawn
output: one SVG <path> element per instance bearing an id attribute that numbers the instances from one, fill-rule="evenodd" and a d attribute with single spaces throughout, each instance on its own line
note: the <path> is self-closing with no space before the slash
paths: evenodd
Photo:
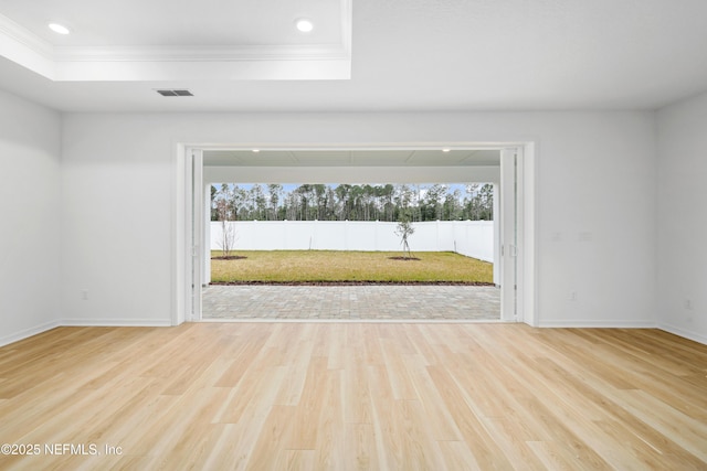
<path id="1" fill-rule="evenodd" d="M 398 223 L 360 221 L 239 221 L 234 250 L 400 250 Z M 456 251 L 494 263 L 493 221 L 413 223 L 410 249 Z M 211 222 L 211 249 L 222 246 L 222 223 Z"/>

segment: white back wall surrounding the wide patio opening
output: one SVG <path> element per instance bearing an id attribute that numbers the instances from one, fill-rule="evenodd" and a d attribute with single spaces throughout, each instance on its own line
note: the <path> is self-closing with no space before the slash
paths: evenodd
<path id="1" fill-rule="evenodd" d="M 62 308 L 76 322 L 169 322 L 178 142 L 536 141 L 539 323 L 654 325 L 654 125 L 652 113 L 70 114 Z"/>

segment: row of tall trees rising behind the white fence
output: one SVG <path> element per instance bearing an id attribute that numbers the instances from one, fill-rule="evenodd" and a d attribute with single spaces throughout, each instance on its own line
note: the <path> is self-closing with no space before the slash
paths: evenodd
<path id="1" fill-rule="evenodd" d="M 211 221 L 490 221 L 490 183 L 211 185 Z"/>

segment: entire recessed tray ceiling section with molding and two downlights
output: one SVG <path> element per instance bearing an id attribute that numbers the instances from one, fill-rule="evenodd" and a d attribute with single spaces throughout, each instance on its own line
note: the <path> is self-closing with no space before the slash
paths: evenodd
<path id="1" fill-rule="evenodd" d="M 59 82 L 345 79 L 350 23 L 350 0 L 6 0 L 0 55 Z"/>

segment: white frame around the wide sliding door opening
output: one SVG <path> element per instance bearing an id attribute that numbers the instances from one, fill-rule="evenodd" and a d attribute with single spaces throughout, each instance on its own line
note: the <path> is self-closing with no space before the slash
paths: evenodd
<path id="1" fill-rule="evenodd" d="M 410 149 L 440 149 L 442 147 L 452 148 L 494 148 L 502 151 L 509 149 L 518 156 L 516 199 L 517 211 L 517 236 L 514 244 L 516 258 L 515 282 L 502 279 L 502 297 L 504 285 L 516 286 L 514 300 L 514 315 L 502 311 L 502 319 L 509 322 L 525 322 L 537 327 L 539 323 L 537 312 L 536 296 L 536 144 L 535 142 L 461 142 L 450 146 L 449 143 L 405 143 L 405 144 L 341 144 L 341 146 L 316 146 L 302 144 L 268 144 L 249 143 L 243 144 L 208 144 L 208 143 L 178 143 L 176 150 L 176 214 L 173 224 L 173 311 L 172 324 L 179 325 L 182 322 L 199 321 L 201 317 L 201 285 L 202 269 L 201 261 L 205 254 L 204 236 L 204 189 L 201 164 L 203 150 L 209 149 L 265 149 L 265 150 L 410 150 Z M 199 165 L 196 165 L 196 162 Z M 503 170 L 502 170 L 503 172 Z M 198 178 L 198 180 L 196 180 Z M 503 180 L 503 175 L 502 175 Z M 197 182 L 198 184 L 192 184 Z M 507 185 L 506 185 L 507 186 Z M 508 189 L 502 186 L 500 193 Z M 503 200 L 503 196 L 502 196 Z M 499 205 L 502 207 L 502 205 Z M 199 213 L 199 214 L 196 214 Z M 199 215 L 197 220 L 196 216 Z M 502 210 L 503 217 L 503 210 Z M 198 221 L 198 224 L 194 224 Z M 502 242 L 503 244 L 503 242 Z M 506 250 L 506 248 L 504 248 Z M 502 257 L 502 265 L 504 264 Z M 506 271 L 505 276 L 509 276 Z M 508 298 L 510 299 L 510 298 Z M 508 302 L 508 301 L 506 301 Z"/>

